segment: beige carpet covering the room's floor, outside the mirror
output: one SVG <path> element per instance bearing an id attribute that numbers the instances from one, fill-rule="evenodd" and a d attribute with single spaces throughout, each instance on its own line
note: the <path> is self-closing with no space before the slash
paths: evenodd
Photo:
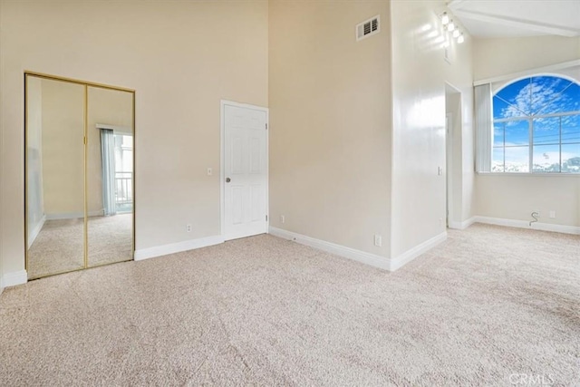
<path id="1" fill-rule="evenodd" d="M 577 386 L 579 273 L 579 237 L 513 228 L 395 273 L 239 239 L 5 289 L 0 385 Z"/>

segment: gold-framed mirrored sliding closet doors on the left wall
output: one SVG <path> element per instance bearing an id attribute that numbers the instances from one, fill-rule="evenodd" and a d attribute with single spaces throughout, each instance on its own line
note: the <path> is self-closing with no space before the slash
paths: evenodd
<path id="1" fill-rule="evenodd" d="M 28 278 L 131 260 L 134 92 L 25 74 Z"/>

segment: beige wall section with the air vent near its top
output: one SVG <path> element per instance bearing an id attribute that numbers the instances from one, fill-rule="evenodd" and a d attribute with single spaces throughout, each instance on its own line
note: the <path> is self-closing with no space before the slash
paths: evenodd
<path id="1" fill-rule="evenodd" d="M 270 3 L 271 226 L 389 256 L 389 24 L 387 2 Z"/>

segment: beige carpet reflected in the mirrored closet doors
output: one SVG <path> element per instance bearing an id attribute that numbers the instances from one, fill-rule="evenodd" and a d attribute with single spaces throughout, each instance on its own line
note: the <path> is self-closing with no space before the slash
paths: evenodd
<path id="1" fill-rule="evenodd" d="M 84 266 L 81 219 L 47 220 L 28 251 L 28 277 Z M 132 259 L 132 214 L 89 218 L 89 266 Z"/>

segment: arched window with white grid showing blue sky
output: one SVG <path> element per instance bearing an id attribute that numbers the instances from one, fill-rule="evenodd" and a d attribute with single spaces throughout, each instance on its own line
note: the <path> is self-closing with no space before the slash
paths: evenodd
<path id="1" fill-rule="evenodd" d="M 493 96 L 492 172 L 580 173 L 580 84 L 551 75 Z"/>

